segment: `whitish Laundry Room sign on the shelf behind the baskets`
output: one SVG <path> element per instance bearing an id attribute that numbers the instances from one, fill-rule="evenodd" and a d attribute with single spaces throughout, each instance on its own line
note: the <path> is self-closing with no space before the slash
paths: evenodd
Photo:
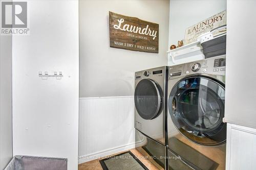
<path id="1" fill-rule="evenodd" d="M 227 24 L 227 11 L 222 11 L 214 16 L 211 16 L 194 26 L 191 26 L 186 29 L 184 44 L 189 44 L 192 42 L 196 42 L 198 36 L 203 33 L 209 32 L 218 27 L 224 26 Z M 222 30 L 223 31 L 226 30 Z"/>

